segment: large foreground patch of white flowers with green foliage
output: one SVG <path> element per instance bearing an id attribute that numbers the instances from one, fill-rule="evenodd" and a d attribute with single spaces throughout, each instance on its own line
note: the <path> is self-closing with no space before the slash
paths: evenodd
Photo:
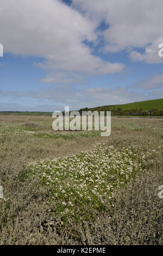
<path id="1" fill-rule="evenodd" d="M 156 151 L 141 153 L 140 147 L 116 149 L 97 143 L 91 151 L 29 163 L 25 176 L 39 176 L 47 187 L 47 201 L 55 200 L 54 214 L 90 217 L 111 207 L 116 190 L 146 170 Z"/>

